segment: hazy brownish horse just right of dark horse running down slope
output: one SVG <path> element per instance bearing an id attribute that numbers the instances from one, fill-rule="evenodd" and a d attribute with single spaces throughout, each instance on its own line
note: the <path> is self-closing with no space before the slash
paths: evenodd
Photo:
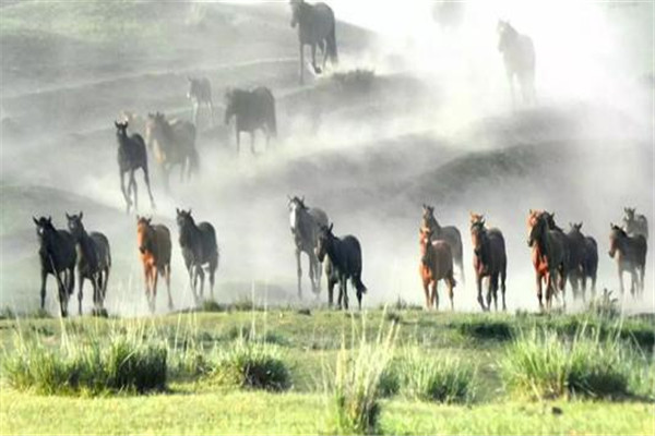
<path id="1" fill-rule="evenodd" d="M 195 148 L 195 126 L 189 121 L 170 120 L 164 113 L 148 113 L 145 122 L 145 144 L 155 154 L 164 177 L 166 191 L 169 190 L 168 175 L 176 165 L 180 166 L 180 181 L 191 179 L 199 170 Z"/>

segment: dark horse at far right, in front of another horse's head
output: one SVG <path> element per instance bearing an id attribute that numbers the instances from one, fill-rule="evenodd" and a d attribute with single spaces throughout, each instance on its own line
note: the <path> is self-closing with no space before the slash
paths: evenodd
<path id="1" fill-rule="evenodd" d="M 619 283 L 621 295 L 624 292 L 623 272 L 630 272 L 632 280 L 630 293 L 635 296 L 636 292 L 644 290 L 644 276 L 646 272 L 646 239 L 640 234 L 630 237 L 619 226 L 610 225 L 609 233 L 609 257 L 617 259 L 619 267 Z"/>

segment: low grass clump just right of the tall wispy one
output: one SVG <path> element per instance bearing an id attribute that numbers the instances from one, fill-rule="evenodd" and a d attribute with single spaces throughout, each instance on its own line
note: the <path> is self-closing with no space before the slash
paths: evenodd
<path id="1" fill-rule="evenodd" d="M 413 348 L 403 353 L 401 384 L 405 395 L 422 401 L 465 403 L 475 397 L 476 367 L 451 355 L 431 356 Z"/>

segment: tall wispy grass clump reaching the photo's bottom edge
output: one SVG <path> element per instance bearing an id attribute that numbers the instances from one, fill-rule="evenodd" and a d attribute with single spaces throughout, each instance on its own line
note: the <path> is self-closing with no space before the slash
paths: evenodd
<path id="1" fill-rule="evenodd" d="M 377 340 L 368 342 L 366 328 L 362 327 L 359 342 L 356 342 L 353 335 L 349 350 L 345 346 L 345 338 L 342 339 L 336 368 L 326 383 L 331 399 L 330 416 L 333 419 L 335 433 L 379 433 L 380 398 L 382 389 L 390 388 L 383 384 L 393 384 L 384 377 L 393 358 L 397 327 L 395 323 L 391 323 L 388 331 L 383 330 L 382 323 Z"/>

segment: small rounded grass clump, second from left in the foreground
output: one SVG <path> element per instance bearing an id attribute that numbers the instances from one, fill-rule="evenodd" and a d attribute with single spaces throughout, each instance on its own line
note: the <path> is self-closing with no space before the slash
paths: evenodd
<path id="1" fill-rule="evenodd" d="M 239 388 L 281 391 L 290 387 L 290 372 L 279 349 L 245 338 L 216 351 L 212 376 L 222 385 Z"/>

